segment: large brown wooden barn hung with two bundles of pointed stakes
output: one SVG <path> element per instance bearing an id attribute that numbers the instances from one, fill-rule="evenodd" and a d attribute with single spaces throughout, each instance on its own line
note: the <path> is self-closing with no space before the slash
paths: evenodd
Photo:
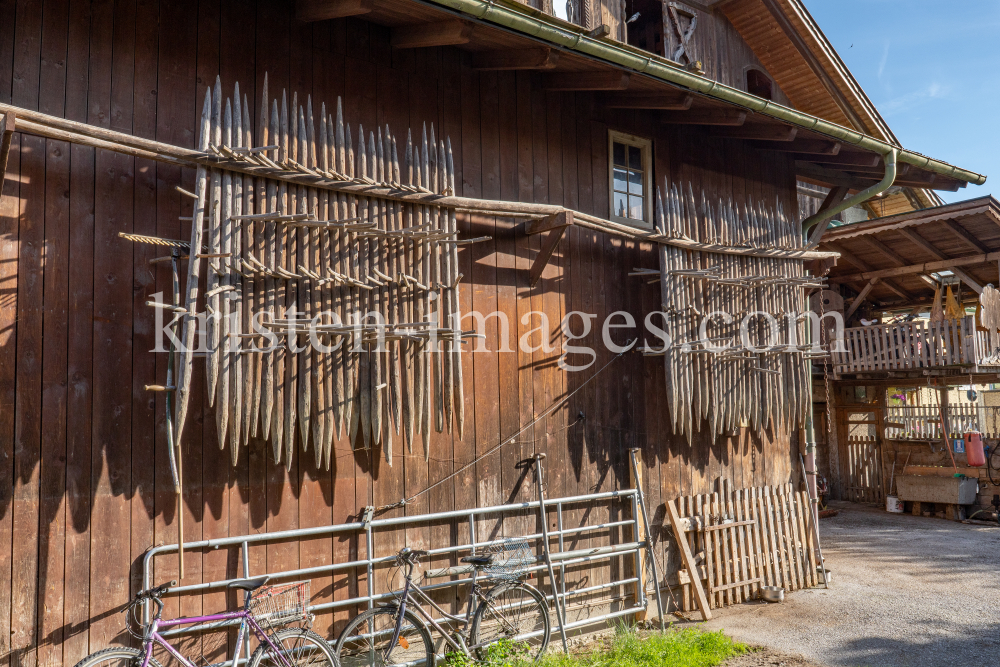
<path id="1" fill-rule="evenodd" d="M 709 343 L 807 308 L 832 219 L 985 177 L 900 146 L 800 0 L 558 13 L 2 1 L 5 664 L 134 641 L 175 578 L 168 615 L 308 579 L 334 637 L 404 544 L 458 609 L 461 556 L 534 536 L 570 630 L 817 584 L 822 353 Z"/>

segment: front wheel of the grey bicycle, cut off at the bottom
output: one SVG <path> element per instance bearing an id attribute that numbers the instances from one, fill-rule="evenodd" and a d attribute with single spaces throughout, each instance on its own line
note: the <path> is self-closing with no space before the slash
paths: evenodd
<path id="1" fill-rule="evenodd" d="M 390 646 L 398 615 L 398 607 L 379 607 L 355 616 L 337 638 L 340 667 L 434 667 L 431 635 L 409 610 L 399 640 Z"/>

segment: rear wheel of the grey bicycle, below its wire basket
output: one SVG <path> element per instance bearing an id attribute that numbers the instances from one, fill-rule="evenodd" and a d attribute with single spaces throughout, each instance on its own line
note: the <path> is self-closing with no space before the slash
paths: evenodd
<path id="1" fill-rule="evenodd" d="M 526 642 L 528 656 L 538 660 L 549 645 L 551 632 L 545 596 L 527 584 L 509 583 L 494 586 L 480 600 L 469 638 L 480 659 L 487 646 L 509 639 Z"/>

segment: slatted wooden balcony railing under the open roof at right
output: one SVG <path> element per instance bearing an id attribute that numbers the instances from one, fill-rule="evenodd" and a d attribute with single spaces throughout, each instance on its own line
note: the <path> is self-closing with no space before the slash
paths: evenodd
<path id="1" fill-rule="evenodd" d="M 845 352 L 833 353 L 833 372 L 843 375 L 903 377 L 923 369 L 995 372 L 1000 357 L 992 354 L 975 317 L 943 322 L 904 322 L 844 330 Z"/>

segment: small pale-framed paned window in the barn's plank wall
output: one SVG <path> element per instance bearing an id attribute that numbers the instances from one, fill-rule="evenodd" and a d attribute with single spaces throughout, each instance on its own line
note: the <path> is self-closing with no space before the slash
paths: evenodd
<path id="1" fill-rule="evenodd" d="M 652 150 L 649 139 L 612 131 L 611 219 L 652 226 Z"/>

